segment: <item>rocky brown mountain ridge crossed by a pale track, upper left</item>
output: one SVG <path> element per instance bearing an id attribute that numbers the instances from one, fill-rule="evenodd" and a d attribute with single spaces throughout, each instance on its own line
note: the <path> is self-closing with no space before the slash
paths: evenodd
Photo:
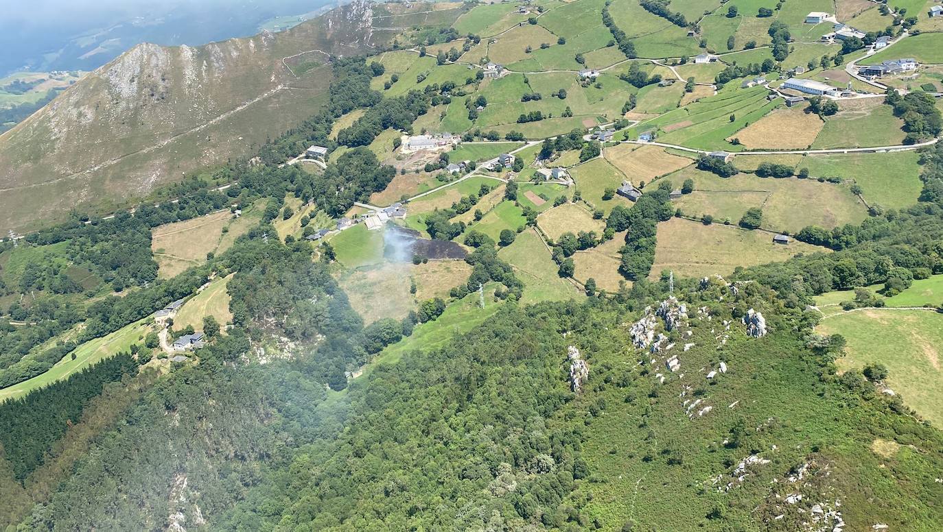
<path id="1" fill-rule="evenodd" d="M 326 54 L 367 52 L 371 17 L 355 3 L 279 34 L 135 46 L 0 136 L 0 233 L 248 153 L 314 112 Z"/>

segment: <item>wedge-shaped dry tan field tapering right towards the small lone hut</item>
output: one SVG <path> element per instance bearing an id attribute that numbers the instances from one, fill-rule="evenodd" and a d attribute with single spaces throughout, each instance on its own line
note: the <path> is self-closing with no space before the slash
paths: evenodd
<path id="1" fill-rule="evenodd" d="M 658 245 L 654 253 L 651 279 L 670 269 L 685 277 L 727 275 L 736 266 L 756 266 L 782 262 L 798 253 L 828 250 L 792 240 L 773 244 L 772 234 L 747 231 L 735 225 L 703 225 L 683 218 L 658 224 Z"/>

